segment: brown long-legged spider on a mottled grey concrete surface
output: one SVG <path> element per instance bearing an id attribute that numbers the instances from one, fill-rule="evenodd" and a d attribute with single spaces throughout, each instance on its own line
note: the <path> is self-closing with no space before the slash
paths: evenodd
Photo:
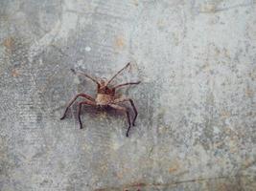
<path id="1" fill-rule="evenodd" d="M 92 77 L 92 76 L 90 76 L 88 74 L 77 72 L 77 74 L 82 74 L 85 77 L 88 77 L 89 79 L 91 79 L 92 81 L 97 83 L 97 96 L 96 96 L 96 98 L 93 98 L 93 97 L 88 96 L 86 94 L 78 94 L 77 96 L 75 96 L 74 98 L 72 98 L 69 101 L 69 103 L 68 103 L 68 105 L 66 107 L 66 110 L 65 110 L 63 116 L 60 117 L 60 119 L 62 120 L 62 119 L 64 119 L 66 117 L 66 113 L 67 113 L 69 107 L 75 102 L 75 100 L 78 97 L 81 96 L 81 97 L 85 98 L 85 100 L 83 100 L 83 101 L 81 101 L 79 103 L 78 117 L 79 117 L 79 122 L 80 122 L 80 128 L 82 128 L 82 124 L 81 124 L 81 106 L 82 105 L 91 105 L 91 106 L 101 107 L 101 108 L 111 107 L 111 108 L 114 108 L 116 110 L 125 112 L 127 114 L 127 117 L 128 117 L 128 131 L 129 131 L 129 129 L 130 129 L 130 117 L 129 117 L 128 109 L 126 107 L 119 106 L 118 103 L 129 101 L 129 103 L 132 106 L 133 111 L 134 111 L 134 118 L 132 120 L 132 125 L 133 126 L 135 125 L 135 119 L 136 119 L 136 117 L 138 115 L 137 110 L 135 108 L 135 105 L 134 105 L 132 99 L 130 99 L 130 98 L 117 98 L 115 96 L 115 91 L 116 91 L 116 89 L 121 88 L 123 86 L 139 84 L 140 81 L 138 81 L 138 82 L 123 83 L 123 84 L 116 85 L 114 87 L 109 87 L 108 86 L 110 84 L 110 82 L 118 74 L 120 74 L 122 71 L 124 71 L 126 68 L 128 68 L 128 66 L 129 66 L 129 63 L 123 69 L 121 69 L 116 74 L 114 74 L 114 76 L 111 77 L 107 81 L 105 81 L 104 79 L 97 80 L 96 78 L 94 78 L 94 77 Z M 74 69 L 71 69 L 71 71 L 76 74 Z M 128 131 L 127 131 L 127 137 L 128 137 Z"/>

